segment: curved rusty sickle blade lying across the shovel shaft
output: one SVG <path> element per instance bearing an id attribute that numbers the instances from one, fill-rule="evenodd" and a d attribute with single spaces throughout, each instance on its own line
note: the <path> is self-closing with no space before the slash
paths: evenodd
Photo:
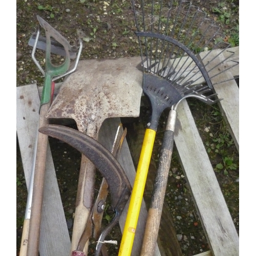
<path id="1" fill-rule="evenodd" d="M 62 125 L 49 124 L 39 132 L 62 140 L 84 154 L 108 182 L 113 208 L 123 210 L 132 186 L 119 162 L 105 147 L 90 136 Z"/>

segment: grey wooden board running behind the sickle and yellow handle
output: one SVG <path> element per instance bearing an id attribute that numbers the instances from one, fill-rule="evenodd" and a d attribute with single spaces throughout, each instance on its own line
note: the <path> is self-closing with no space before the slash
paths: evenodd
<path id="1" fill-rule="evenodd" d="M 100 129 L 99 132 L 99 141 L 106 147 L 108 150 L 111 150 L 112 144 L 115 138 L 115 134 L 117 131 L 117 127 L 120 124 L 120 118 L 108 118 L 106 119 Z M 129 146 L 126 142 L 126 139 L 123 142 L 122 145 L 122 151 L 120 154 L 120 157 L 118 159 L 119 163 L 123 167 L 127 178 L 129 179 L 131 185 L 133 186 L 134 179 L 135 179 L 135 168 L 132 160 L 132 156 L 129 150 Z M 126 204 L 122 215 L 119 220 L 119 225 L 121 228 L 121 231 L 123 232 L 124 224 L 125 224 L 125 219 L 127 216 L 127 211 L 128 211 L 128 206 L 129 202 Z M 133 250 L 132 250 L 132 256 L 138 256 L 140 254 L 141 250 L 141 245 L 142 245 L 142 240 L 143 240 L 143 234 L 145 230 L 145 225 L 146 225 L 146 217 L 147 217 L 147 210 L 146 210 L 146 205 L 144 200 L 142 201 L 142 206 L 140 209 L 140 216 L 139 216 L 139 221 L 138 225 L 136 228 L 136 234 L 134 238 L 134 245 L 133 245 Z M 157 246 L 155 250 L 155 256 L 160 256 L 160 251 Z"/>

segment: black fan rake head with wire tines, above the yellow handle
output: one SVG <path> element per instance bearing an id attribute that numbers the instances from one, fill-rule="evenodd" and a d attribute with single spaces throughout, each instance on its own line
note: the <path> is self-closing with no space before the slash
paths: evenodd
<path id="1" fill-rule="evenodd" d="M 155 130 L 154 120 L 183 98 L 196 97 L 207 104 L 218 101 L 214 84 L 227 81 L 221 74 L 238 62 L 214 20 L 182 0 L 132 0 L 132 4 L 143 91 L 152 103 L 150 127 Z"/>

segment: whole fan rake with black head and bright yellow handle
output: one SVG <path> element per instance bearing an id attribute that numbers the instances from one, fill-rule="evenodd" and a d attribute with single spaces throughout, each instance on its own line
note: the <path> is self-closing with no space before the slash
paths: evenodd
<path id="1" fill-rule="evenodd" d="M 143 92 L 150 99 L 152 116 L 145 131 L 119 256 L 131 254 L 160 115 L 190 96 L 207 103 L 216 102 L 211 79 L 238 65 L 234 62 L 225 66 L 224 62 L 233 54 L 228 50 L 229 45 L 223 41 L 214 21 L 190 2 L 132 0 L 132 5 L 143 67 Z M 207 65 L 219 55 L 209 58 L 210 49 L 220 47 L 224 48 L 221 53 L 227 53 L 225 60 L 206 72 Z M 205 56 L 200 57 L 204 51 Z M 214 72 L 216 70 L 219 72 Z M 168 144 L 168 150 L 172 148 L 167 139 L 164 144 Z M 151 210 L 150 218 L 159 216 Z M 158 228 L 151 229 L 146 236 L 150 232 L 157 237 Z M 147 237 L 145 240 L 148 241 Z M 145 242 L 142 255 L 153 253 L 147 253 L 149 250 L 145 252 L 148 243 L 151 242 Z"/>

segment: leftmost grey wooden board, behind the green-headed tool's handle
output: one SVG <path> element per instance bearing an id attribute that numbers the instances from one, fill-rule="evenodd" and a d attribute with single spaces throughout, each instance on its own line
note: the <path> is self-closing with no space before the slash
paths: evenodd
<path id="1" fill-rule="evenodd" d="M 17 87 L 16 92 L 16 130 L 28 187 L 40 100 L 36 84 Z M 39 252 L 41 256 L 69 255 L 71 242 L 49 145 L 45 180 Z"/>

